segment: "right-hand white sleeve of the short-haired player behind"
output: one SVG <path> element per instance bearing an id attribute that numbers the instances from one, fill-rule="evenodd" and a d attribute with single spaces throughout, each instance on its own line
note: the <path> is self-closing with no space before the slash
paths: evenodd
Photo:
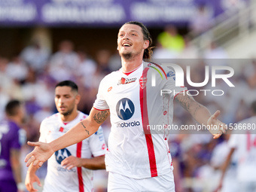
<path id="1" fill-rule="evenodd" d="M 99 130 L 89 137 L 90 151 L 93 157 L 102 156 L 105 154 L 107 146 L 105 145 L 105 138 L 103 136 L 102 127 L 99 126 Z"/>

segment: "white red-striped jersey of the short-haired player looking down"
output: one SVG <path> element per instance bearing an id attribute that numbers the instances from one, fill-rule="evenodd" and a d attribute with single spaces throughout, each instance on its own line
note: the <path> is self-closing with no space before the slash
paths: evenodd
<path id="1" fill-rule="evenodd" d="M 84 120 L 86 114 L 79 112 L 75 120 L 63 123 L 60 114 L 56 113 L 45 118 L 40 126 L 40 142 L 52 142 L 54 139 L 64 135 L 68 130 L 75 126 L 79 121 Z M 44 180 L 44 192 L 81 192 L 93 191 L 93 170 L 84 167 L 74 167 L 64 169 L 60 165 L 62 160 L 69 156 L 91 158 L 105 154 L 106 145 L 102 133 L 102 128 L 84 139 L 78 144 L 71 145 L 56 151 L 47 161 L 47 175 Z"/>

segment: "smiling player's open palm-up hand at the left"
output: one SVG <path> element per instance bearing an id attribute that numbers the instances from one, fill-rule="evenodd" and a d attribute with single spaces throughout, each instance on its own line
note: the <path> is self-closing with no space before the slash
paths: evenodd
<path id="1" fill-rule="evenodd" d="M 33 166 L 42 166 L 54 153 L 50 144 L 44 142 L 28 142 L 28 145 L 35 146 L 34 150 L 26 155 L 25 163 L 29 166 L 33 163 Z"/>

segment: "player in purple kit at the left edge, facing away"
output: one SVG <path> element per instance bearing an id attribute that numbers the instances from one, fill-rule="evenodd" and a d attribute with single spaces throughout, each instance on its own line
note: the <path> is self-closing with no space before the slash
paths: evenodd
<path id="1" fill-rule="evenodd" d="M 25 185 L 21 178 L 20 148 L 26 133 L 20 126 L 26 113 L 20 101 L 11 100 L 5 114 L 7 119 L 0 124 L 0 191 L 21 192 Z"/>

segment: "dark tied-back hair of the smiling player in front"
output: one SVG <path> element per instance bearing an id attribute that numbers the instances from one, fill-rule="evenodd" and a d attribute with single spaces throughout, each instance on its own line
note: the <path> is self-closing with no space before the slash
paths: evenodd
<path id="1" fill-rule="evenodd" d="M 140 23 L 139 21 L 129 21 L 129 22 L 124 23 L 124 25 L 126 25 L 126 24 L 133 24 L 133 25 L 140 26 L 142 28 L 144 40 L 149 41 L 148 48 L 144 50 L 143 59 L 151 59 L 151 56 L 153 54 L 152 49 L 154 47 L 152 46 L 153 41 L 152 41 L 151 35 L 150 35 L 147 27 L 143 23 Z"/>

